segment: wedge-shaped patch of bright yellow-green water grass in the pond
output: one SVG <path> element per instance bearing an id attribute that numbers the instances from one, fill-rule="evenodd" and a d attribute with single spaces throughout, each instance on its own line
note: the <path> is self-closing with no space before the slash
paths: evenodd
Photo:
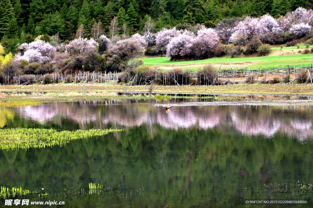
<path id="1" fill-rule="evenodd" d="M 102 136 L 123 129 L 89 129 L 58 131 L 44 128 L 0 129 L 0 149 L 46 148 L 65 145 L 72 140 Z"/>

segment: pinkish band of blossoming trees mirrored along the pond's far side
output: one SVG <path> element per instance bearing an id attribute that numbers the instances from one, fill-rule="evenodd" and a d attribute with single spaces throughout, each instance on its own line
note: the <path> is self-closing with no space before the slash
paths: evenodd
<path id="1" fill-rule="evenodd" d="M 54 123 L 59 127 L 68 125 L 66 123 L 72 120 L 78 125 L 74 128 L 83 129 L 108 128 L 108 125 L 112 128 L 121 126 L 127 128 L 154 123 L 174 129 L 190 127 L 207 129 L 219 125 L 232 126 L 239 132 L 249 135 L 271 136 L 281 131 L 299 139 L 312 138 L 313 130 L 312 106 L 173 107 L 166 113 L 163 108 L 144 103 L 130 104 L 127 100 L 121 100 L 109 105 L 96 105 L 93 102 L 51 103 L 0 110 L 6 112 L 0 117 L 1 127 L 7 120 L 12 120 L 13 114 L 43 125 Z"/>

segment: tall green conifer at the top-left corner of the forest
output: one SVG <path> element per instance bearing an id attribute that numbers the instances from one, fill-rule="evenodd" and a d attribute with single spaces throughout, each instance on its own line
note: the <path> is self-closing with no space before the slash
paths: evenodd
<path id="1" fill-rule="evenodd" d="M 0 1 L 0 35 L 3 36 L 9 27 L 10 22 L 15 19 L 14 9 L 10 0 Z"/>

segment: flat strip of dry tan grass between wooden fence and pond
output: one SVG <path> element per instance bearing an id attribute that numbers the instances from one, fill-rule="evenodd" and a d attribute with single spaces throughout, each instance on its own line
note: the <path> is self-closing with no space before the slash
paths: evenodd
<path id="1" fill-rule="evenodd" d="M 103 85 L 103 84 L 64 84 L 64 85 L 1 85 L 0 92 L 115 92 L 148 93 L 149 86 Z M 281 95 L 313 96 L 313 85 L 218 85 L 218 86 L 162 86 L 155 85 L 153 94 L 228 94 L 228 95 Z"/>

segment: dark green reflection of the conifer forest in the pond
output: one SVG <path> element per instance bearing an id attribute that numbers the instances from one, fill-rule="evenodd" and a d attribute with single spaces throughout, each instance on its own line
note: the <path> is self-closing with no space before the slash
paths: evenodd
<path id="1" fill-rule="evenodd" d="M 90 182 L 111 188 L 120 185 L 128 195 L 132 193 L 68 197 L 65 207 L 213 208 L 236 207 L 244 199 L 312 197 L 263 190 L 258 196 L 256 191 L 274 182 L 312 183 L 310 141 L 299 142 L 281 133 L 273 139 L 244 136 L 230 126 L 176 130 L 145 123 L 118 136 L 118 141 L 109 134 L 64 147 L 0 151 L 0 181 L 9 187 L 45 188 L 51 197 L 47 200 L 56 200 L 54 193 L 64 189 L 88 190 Z M 145 191 L 140 193 L 142 187 Z"/>

